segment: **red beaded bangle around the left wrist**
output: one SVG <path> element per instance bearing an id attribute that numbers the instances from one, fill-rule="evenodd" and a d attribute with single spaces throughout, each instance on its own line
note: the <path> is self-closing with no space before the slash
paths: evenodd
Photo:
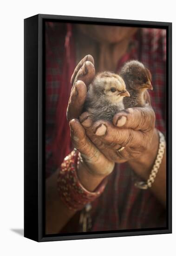
<path id="1" fill-rule="evenodd" d="M 78 180 L 76 165 L 78 151 L 73 150 L 66 156 L 58 175 L 58 191 L 61 200 L 69 209 L 80 210 L 85 204 L 95 200 L 104 191 L 107 179 L 104 179 L 94 192 L 85 189 Z"/>

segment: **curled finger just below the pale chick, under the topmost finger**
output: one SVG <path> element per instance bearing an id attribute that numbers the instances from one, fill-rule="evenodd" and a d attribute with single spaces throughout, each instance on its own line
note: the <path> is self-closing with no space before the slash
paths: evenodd
<path id="1" fill-rule="evenodd" d="M 92 130 L 105 144 L 117 143 L 122 147 L 145 148 L 149 141 L 149 136 L 142 131 L 136 131 L 131 128 L 117 128 L 104 120 L 95 122 Z"/>

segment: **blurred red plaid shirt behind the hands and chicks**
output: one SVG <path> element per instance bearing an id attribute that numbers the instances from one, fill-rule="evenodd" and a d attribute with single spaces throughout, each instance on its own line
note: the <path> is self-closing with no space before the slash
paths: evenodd
<path id="1" fill-rule="evenodd" d="M 71 38 L 69 38 L 70 34 L 66 33 L 65 24 L 46 23 L 46 176 L 58 168 L 60 162 L 56 161 L 57 152 L 58 159 L 59 152 L 63 154 L 64 158 L 68 154 L 68 148 L 71 148 L 69 127 L 66 125 L 65 115 L 71 85 L 68 77 L 65 78 L 63 75 L 63 66 L 65 50 L 68 58 L 68 54 L 72 54 L 74 48 L 72 47 L 72 52 L 68 51 L 67 43 Z M 141 28 L 130 44 L 130 51 L 119 61 L 117 72 L 125 61 L 132 59 L 143 62 L 150 69 L 154 90 L 149 93 L 152 107 L 156 113 L 156 128 L 165 134 L 166 30 Z M 73 59 L 71 55 L 69 57 Z M 69 63 L 66 64 L 69 66 Z M 72 71 L 73 67 L 67 76 L 70 76 Z M 64 96 L 61 85 L 65 86 Z M 59 105 L 61 102 L 60 92 L 62 92 L 61 99 L 66 102 L 65 106 Z M 58 106 L 60 107 L 58 108 Z M 63 131 L 60 133 L 63 135 L 63 141 L 58 142 L 58 151 L 53 154 L 53 145 L 59 129 L 56 124 L 58 114 L 66 127 L 63 126 Z M 66 138 L 67 145 L 65 145 L 64 138 Z M 110 175 L 104 193 L 92 202 L 91 231 L 166 226 L 165 211 L 161 204 L 150 190 L 137 189 L 134 186 L 134 179 L 135 174 L 127 163 L 116 165 L 116 171 Z M 67 231 L 80 231 L 75 227 L 72 229 L 71 222 L 67 225 Z M 78 225 L 76 226 L 78 227 Z"/>

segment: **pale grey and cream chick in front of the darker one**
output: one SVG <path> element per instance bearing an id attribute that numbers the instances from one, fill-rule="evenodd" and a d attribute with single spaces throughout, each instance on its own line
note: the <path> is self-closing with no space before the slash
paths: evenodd
<path id="1" fill-rule="evenodd" d="M 124 80 L 117 74 L 102 72 L 91 82 L 85 101 L 85 111 L 91 119 L 112 121 L 113 116 L 124 109 L 123 98 L 130 96 Z"/>

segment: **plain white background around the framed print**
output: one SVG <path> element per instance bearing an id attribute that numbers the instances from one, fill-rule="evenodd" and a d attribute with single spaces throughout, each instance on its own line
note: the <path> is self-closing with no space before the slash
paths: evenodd
<path id="1" fill-rule="evenodd" d="M 99 2 L 99 3 L 98 3 Z M 23 229 L 23 19 L 37 13 L 173 22 L 173 71 L 176 68 L 174 1 L 11 0 L 0 4 L 0 255 L 135 255 L 176 252 L 176 175 L 173 167 L 173 234 L 36 243 Z M 175 72 L 173 72 L 175 74 Z M 176 97 L 173 77 L 173 97 Z M 175 101 L 176 102 L 176 101 Z M 173 102 L 175 104 L 175 102 Z M 173 106 L 173 115 L 176 105 Z M 176 139 L 173 120 L 173 139 Z M 173 143 L 173 156 L 175 145 Z M 173 159 L 173 163 L 175 160 Z M 31 184 L 32 186 L 32 184 Z M 20 231 L 21 232 L 21 231 Z"/>

